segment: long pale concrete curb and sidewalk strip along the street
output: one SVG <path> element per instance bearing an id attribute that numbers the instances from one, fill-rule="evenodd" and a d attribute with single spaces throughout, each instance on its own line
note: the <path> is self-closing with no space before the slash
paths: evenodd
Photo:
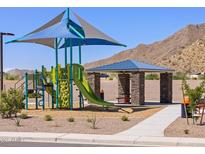
<path id="1" fill-rule="evenodd" d="M 49 142 L 116 146 L 205 146 L 205 139 L 202 138 L 0 132 L 0 144 L 4 142 Z"/>

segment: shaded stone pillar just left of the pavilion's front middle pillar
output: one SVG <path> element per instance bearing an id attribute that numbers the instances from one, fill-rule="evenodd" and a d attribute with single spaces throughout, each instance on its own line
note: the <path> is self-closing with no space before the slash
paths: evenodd
<path id="1" fill-rule="evenodd" d="M 118 98 L 124 98 L 125 100 L 130 96 L 130 75 L 129 74 L 118 74 Z M 124 102 L 123 102 L 124 103 Z"/>

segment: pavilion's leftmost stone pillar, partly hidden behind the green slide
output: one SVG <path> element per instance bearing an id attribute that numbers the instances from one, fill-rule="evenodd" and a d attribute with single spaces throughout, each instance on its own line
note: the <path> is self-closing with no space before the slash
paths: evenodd
<path id="1" fill-rule="evenodd" d="M 94 93 L 100 97 L 100 73 L 88 73 L 88 83 Z"/>

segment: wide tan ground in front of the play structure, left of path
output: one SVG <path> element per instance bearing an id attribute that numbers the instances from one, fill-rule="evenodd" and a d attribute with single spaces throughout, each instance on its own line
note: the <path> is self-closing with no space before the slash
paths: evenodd
<path id="1" fill-rule="evenodd" d="M 82 133 L 82 134 L 115 134 L 126 130 L 154 113 L 162 107 L 136 108 L 133 113 L 121 113 L 115 110 L 103 111 L 102 108 L 87 108 L 81 111 L 68 110 L 29 110 L 27 119 L 22 119 L 20 127 L 15 125 L 14 119 L 0 118 L 0 131 L 16 132 L 53 132 L 53 133 Z M 51 115 L 52 121 L 45 121 L 45 115 Z M 129 121 L 122 121 L 126 115 Z M 91 128 L 88 118 L 96 116 L 96 129 Z M 75 122 L 68 122 L 73 117 Z"/>

